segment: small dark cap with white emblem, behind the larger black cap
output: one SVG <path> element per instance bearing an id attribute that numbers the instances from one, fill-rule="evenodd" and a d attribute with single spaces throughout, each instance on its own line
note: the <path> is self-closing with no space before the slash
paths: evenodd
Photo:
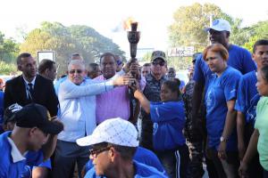
<path id="1" fill-rule="evenodd" d="M 8 122 L 15 122 L 15 114 L 22 109 L 22 106 L 18 103 L 14 103 L 10 105 L 8 108 L 4 110 L 4 125 Z"/>

